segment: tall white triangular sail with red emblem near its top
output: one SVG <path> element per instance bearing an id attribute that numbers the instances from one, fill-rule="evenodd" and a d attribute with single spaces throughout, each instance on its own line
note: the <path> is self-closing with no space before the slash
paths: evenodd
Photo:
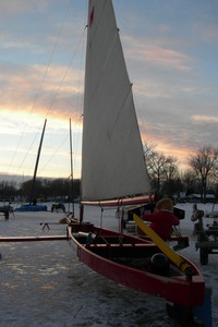
<path id="1" fill-rule="evenodd" d="M 89 0 L 82 199 L 149 192 L 143 146 L 111 0 Z"/>

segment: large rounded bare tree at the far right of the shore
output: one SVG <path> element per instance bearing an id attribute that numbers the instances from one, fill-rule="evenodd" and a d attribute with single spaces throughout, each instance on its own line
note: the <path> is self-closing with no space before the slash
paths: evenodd
<path id="1" fill-rule="evenodd" d="M 201 181 L 202 202 L 206 202 L 208 179 L 217 172 L 218 149 L 204 146 L 190 158 L 189 164 Z"/>

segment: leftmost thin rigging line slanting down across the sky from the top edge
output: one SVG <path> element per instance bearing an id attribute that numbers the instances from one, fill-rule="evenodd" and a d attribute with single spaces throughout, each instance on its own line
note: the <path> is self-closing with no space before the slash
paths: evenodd
<path id="1" fill-rule="evenodd" d="M 52 60 L 52 58 L 53 58 L 55 51 L 56 51 L 57 46 L 58 46 L 58 41 L 59 41 L 59 39 L 60 39 L 60 36 L 61 36 L 61 34 L 62 34 L 63 26 L 64 26 L 64 24 L 65 24 L 65 21 L 66 21 L 68 14 L 69 14 L 70 5 L 71 5 L 71 0 L 70 0 L 69 3 L 68 3 L 66 11 L 65 11 L 65 15 L 64 15 L 64 17 L 63 17 L 61 27 L 60 27 L 60 29 L 59 29 L 59 34 L 58 34 L 58 37 L 57 37 L 57 39 L 56 39 L 56 44 L 55 44 L 53 50 L 52 50 L 52 52 L 51 52 L 51 56 L 50 56 L 50 58 L 49 58 L 47 68 L 46 68 L 46 70 L 45 70 L 45 73 L 44 73 L 44 76 L 43 76 L 43 80 L 41 80 L 40 85 L 39 85 L 39 87 L 38 87 L 38 89 L 37 89 L 36 97 L 34 98 L 34 102 L 33 102 L 31 112 L 29 112 L 29 114 L 28 114 L 28 118 L 31 117 L 31 114 L 32 114 L 32 112 L 33 112 L 33 110 L 34 110 L 34 107 L 35 107 L 35 104 L 36 104 L 36 101 L 37 101 L 37 99 L 38 99 L 38 96 L 39 96 L 41 86 L 43 86 L 43 84 L 44 84 L 44 81 L 45 81 L 46 75 L 47 75 L 47 73 L 48 73 L 48 70 L 49 70 L 49 68 L 50 68 L 51 60 Z M 11 166 L 12 166 L 12 164 L 13 164 L 13 160 L 14 160 L 14 158 L 15 158 L 15 155 L 16 155 L 19 148 L 20 148 L 21 142 L 22 142 L 23 136 L 24 136 L 24 133 L 25 133 L 25 131 L 26 131 L 26 126 L 27 126 L 27 122 L 25 123 L 24 129 L 23 129 L 23 131 L 22 131 L 22 135 L 21 135 L 21 137 L 20 137 L 20 140 L 19 140 L 19 144 L 17 144 L 17 146 L 16 146 L 16 149 L 15 149 L 15 152 L 14 152 L 14 154 L 13 154 L 13 157 L 12 157 L 12 159 L 11 159 L 11 162 L 10 162 L 10 165 L 9 165 L 8 172 L 9 172 L 9 170 L 11 169 Z M 26 158 L 26 157 L 25 157 L 25 158 Z M 25 159 L 24 159 L 24 160 L 25 160 Z"/>

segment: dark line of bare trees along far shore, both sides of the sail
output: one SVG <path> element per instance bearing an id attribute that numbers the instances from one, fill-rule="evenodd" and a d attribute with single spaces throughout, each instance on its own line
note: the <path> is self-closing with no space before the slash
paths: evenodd
<path id="1" fill-rule="evenodd" d="M 144 146 L 144 156 L 150 180 L 152 192 L 157 195 L 173 196 L 185 192 L 198 193 L 206 202 L 207 194 L 218 195 L 218 149 L 204 146 L 189 159 L 189 169 L 179 170 L 178 159 L 157 152 L 155 146 Z M 0 182 L 1 201 L 28 202 L 32 180 L 17 185 L 16 182 Z M 69 179 L 37 178 L 34 197 L 40 202 L 72 202 L 80 197 L 81 181 Z"/>

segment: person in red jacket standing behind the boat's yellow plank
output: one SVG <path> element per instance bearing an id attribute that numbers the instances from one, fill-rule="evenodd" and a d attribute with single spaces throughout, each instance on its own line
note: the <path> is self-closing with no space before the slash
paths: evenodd
<path id="1" fill-rule="evenodd" d="M 156 211 L 142 214 L 142 219 L 150 221 L 149 227 L 165 241 L 171 233 L 172 227 L 178 226 L 180 220 L 173 215 L 173 203 L 170 198 L 164 197 L 156 204 Z"/>

